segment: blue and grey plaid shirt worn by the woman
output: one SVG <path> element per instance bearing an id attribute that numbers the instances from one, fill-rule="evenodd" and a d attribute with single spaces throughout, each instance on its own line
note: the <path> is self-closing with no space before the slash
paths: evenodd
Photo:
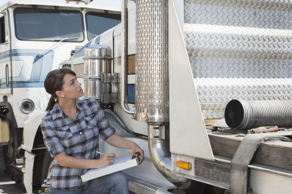
<path id="1" fill-rule="evenodd" d="M 98 136 L 105 141 L 115 133 L 99 104 L 93 99 L 75 99 L 76 120 L 66 116 L 58 101 L 41 121 L 44 143 L 52 157 L 61 152 L 84 159 L 99 159 Z M 82 182 L 81 175 L 88 169 L 62 167 L 53 159 L 51 186 L 58 190 L 81 190 L 89 181 Z"/>

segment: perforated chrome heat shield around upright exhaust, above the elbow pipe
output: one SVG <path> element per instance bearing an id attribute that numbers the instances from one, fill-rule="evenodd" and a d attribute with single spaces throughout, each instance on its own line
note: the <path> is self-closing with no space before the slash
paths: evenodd
<path id="1" fill-rule="evenodd" d="M 168 1 L 136 1 L 136 36 L 135 120 L 167 122 Z"/>

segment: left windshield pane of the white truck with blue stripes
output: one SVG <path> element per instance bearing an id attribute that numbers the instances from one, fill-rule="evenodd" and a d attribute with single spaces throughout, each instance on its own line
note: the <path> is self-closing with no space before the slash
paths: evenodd
<path id="1" fill-rule="evenodd" d="M 74 10 L 16 8 L 15 34 L 19 40 L 82 42 L 82 14 Z"/>

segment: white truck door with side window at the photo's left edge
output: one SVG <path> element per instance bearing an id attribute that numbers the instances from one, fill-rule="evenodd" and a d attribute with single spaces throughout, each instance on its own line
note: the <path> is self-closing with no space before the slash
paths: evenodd
<path id="1" fill-rule="evenodd" d="M 12 93 L 10 36 L 7 11 L 0 13 L 0 94 Z"/>

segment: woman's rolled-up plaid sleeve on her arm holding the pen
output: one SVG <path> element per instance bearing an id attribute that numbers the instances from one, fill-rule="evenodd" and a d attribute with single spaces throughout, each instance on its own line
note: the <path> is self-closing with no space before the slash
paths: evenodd
<path id="1" fill-rule="evenodd" d="M 44 136 L 44 143 L 48 148 L 48 151 L 52 158 L 55 155 L 65 151 L 56 132 L 50 125 L 48 125 L 45 120 L 41 121 L 41 132 Z"/>

